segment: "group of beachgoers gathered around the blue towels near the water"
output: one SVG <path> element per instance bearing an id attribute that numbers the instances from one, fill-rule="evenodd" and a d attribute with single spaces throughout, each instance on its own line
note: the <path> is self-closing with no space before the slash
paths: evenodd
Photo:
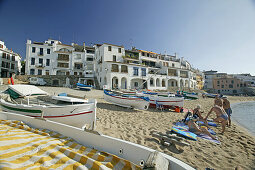
<path id="1" fill-rule="evenodd" d="M 201 106 L 197 105 L 197 107 L 193 110 L 192 116 L 189 117 L 189 119 L 185 118 L 186 123 L 189 126 L 189 131 L 200 134 L 204 133 L 210 136 L 212 139 L 215 139 L 213 135 L 208 131 L 208 122 L 207 118 L 211 113 L 216 114 L 216 118 L 213 119 L 214 122 L 221 123 L 222 126 L 222 134 L 225 132 L 225 127 L 226 125 L 231 126 L 231 114 L 232 110 L 230 108 L 230 102 L 227 99 L 227 97 L 223 96 L 222 99 L 220 98 L 219 95 L 216 95 L 215 100 L 214 100 L 214 106 L 211 108 L 211 110 L 208 112 L 208 114 L 203 117 L 202 116 L 202 111 L 200 111 Z M 204 126 L 199 127 L 195 122 L 196 121 L 202 121 L 204 122 Z"/>

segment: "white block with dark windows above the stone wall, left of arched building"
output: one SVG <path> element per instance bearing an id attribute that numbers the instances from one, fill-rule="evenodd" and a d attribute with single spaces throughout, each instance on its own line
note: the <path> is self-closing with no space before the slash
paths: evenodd
<path id="1" fill-rule="evenodd" d="M 26 44 L 27 75 L 79 75 L 94 78 L 93 47 L 62 44 L 48 39 Z"/>

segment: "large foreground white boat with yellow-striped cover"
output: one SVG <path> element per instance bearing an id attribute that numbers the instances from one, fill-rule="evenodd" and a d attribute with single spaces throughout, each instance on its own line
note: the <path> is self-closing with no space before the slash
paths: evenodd
<path id="1" fill-rule="evenodd" d="M 0 145 L 0 169 L 194 170 L 145 146 L 50 120 L 0 112 L 0 127 L 8 135 L 8 140 L 5 135 L 0 136 L 4 138 Z"/>

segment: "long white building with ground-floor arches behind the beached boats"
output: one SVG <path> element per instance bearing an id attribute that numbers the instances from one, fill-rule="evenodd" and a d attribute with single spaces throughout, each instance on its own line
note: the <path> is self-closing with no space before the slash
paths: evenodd
<path id="1" fill-rule="evenodd" d="M 100 88 L 196 88 L 195 70 L 176 56 L 104 43 L 95 45 L 95 60 Z"/>

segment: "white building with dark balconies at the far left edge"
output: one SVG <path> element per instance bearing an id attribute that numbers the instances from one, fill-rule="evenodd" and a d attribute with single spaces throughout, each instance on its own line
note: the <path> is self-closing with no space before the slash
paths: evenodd
<path id="1" fill-rule="evenodd" d="M 6 48 L 3 41 L 0 41 L 0 75 L 11 77 L 12 74 L 20 74 L 21 56 Z"/>

